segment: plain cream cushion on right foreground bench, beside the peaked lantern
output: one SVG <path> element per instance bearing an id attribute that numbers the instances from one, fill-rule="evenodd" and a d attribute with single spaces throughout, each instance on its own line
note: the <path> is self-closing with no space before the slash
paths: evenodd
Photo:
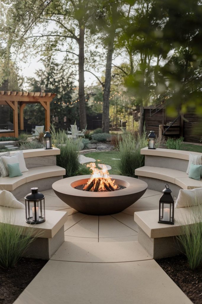
<path id="1" fill-rule="evenodd" d="M 180 189 L 175 208 L 190 207 L 202 204 L 202 188 L 191 190 Z"/>

